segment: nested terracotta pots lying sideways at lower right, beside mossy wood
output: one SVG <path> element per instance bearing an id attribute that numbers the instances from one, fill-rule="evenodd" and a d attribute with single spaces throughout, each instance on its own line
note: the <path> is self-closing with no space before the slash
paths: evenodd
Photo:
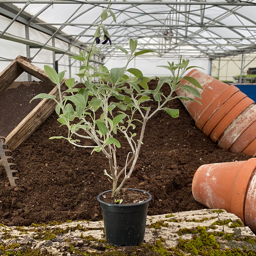
<path id="1" fill-rule="evenodd" d="M 196 201 L 225 209 L 256 232 L 256 158 L 202 165 L 195 172 L 192 193 Z"/>

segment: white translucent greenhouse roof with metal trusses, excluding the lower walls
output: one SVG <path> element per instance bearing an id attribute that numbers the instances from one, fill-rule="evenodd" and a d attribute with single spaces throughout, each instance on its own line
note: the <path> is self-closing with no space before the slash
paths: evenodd
<path id="1" fill-rule="evenodd" d="M 29 45 L 32 60 L 44 50 L 71 56 L 92 43 L 96 29 L 93 24 L 100 23 L 100 13 L 108 3 L 109 0 L 0 0 L 0 39 Z M 104 24 L 112 44 L 127 49 L 132 37 L 138 40 L 138 49 L 155 49 L 162 58 L 169 59 L 183 55 L 215 60 L 256 51 L 256 0 L 111 0 L 110 9 L 117 23 L 110 16 Z M 29 33 L 12 29 L 17 22 L 25 25 Z M 55 49 L 47 49 L 47 45 L 53 45 L 53 38 Z M 122 54 L 110 47 L 100 57 L 108 60 Z"/>

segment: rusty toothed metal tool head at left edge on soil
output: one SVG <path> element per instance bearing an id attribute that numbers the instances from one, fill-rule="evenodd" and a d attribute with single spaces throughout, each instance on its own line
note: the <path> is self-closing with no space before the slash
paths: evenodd
<path id="1" fill-rule="evenodd" d="M 12 162 L 13 158 L 11 155 L 12 151 L 8 149 L 8 144 L 5 143 L 5 137 L 0 136 L 0 165 L 5 168 L 10 185 L 15 187 L 15 180 L 19 179 L 19 177 L 13 177 L 13 173 L 17 173 L 18 171 L 11 169 L 11 166 L 15 165 L 15 163 Z"/>

